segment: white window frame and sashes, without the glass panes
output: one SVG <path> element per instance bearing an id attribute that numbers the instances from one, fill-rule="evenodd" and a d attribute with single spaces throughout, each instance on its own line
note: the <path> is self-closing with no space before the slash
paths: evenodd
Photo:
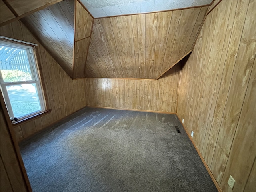
<path id="1" fill-rule="evenodd" d="M 0 38 L 1 38 L 1 41 L 0 41 L 1 46 L 9 46 L 9 47 L 13 47 L 13 48 L 21 48 L 21 49 L 26 50 L 27 56 L 28 56 L 28 61 L 29 61 L 29 66 L 30 66 L 30 71 L 31 71 L 31 78 L 32 78 L 32 80 L 27 80 L 27 81 L 4 82 L 4 80 L 2 78 L 2 73 L 0 72 L 1 90 L 2 90 L 2 94 L 4 96 L 4 100 L 5 100 L 6 107 L 7 107 L 10 118 L 11 117 L 14 118 L 12 106 L 11 106 L 8 92 L 6 89 L 6 86 L 10 86 L 10 85 L 36 84 L 38 100 L 39 100 L 41 110 L 26 114 L 25 116 L 20 117 L 18 120 L 29 118 L 30 116 L 34 116 L 36 114 L 44 112 L 46 110 L 46 101 L 44 98 L 44 92 L 43 92 L 42 82 L 41 82 L 41 78 L 40 78 L 40 74 L 39 74 L 38 63 L 37 63 L 36 56 L 35 56 L 35 46 L 37 46 L 37 44 L 32 44 L 32 43 L 24 42 L 24 41 L 20 41 L 20 40 L 15 40 L 12 38 L 6 38 L 3 36 L 0 36 Z"/>

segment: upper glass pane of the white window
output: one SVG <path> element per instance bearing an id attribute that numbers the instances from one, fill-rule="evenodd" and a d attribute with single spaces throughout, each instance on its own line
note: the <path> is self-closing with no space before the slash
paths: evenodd
<path id="1" fill-rule="evenodd" d="M 25 49 L 0 46 L 0 69 L 4 82 L 32 80 Z"/>

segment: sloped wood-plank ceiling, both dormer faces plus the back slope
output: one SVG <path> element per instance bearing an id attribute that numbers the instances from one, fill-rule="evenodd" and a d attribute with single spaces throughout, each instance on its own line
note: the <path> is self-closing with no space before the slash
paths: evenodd
<path id="1" fill-rule="evenodd" d="M 20 20 L 73 79 L 158 79 L 192 51 L 207 8 L 93 19 L 66 0 Z"/>

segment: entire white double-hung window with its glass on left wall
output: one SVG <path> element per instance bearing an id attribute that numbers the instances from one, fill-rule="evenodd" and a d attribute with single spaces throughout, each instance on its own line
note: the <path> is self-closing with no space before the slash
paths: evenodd
<path id="1" fill-rule="evenodd" d="M 20 41 L 19 41 L 20 42 Z M 0 41 L 0 84 L 10 117 L 22 120 L 45 110 L 34 46 Z"/>

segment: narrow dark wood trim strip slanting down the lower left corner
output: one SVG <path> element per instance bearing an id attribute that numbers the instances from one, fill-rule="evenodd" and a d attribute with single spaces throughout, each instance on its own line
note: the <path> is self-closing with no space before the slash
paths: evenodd
<path id="1" fill-rule="evenodd" d="M 4 102 L 4 97 L 2 95 L 2 91 L 0 91 L 0 104 L 1 104 L 1 110 L 4 113 L 4 118 L 5 118 L 7 126 L 8 126 L 9 134 L 12 138 L 12 144 L 14 145 L 14 150 L 15 150 L 15 153 L 16 153 L 17 158 L 18 158 L 20 169 L 22 171 L 22 176 L 23 176 L 23 178 L 26 182 L 26 187 L 28 189 L 28 192 L 32 192 L 32 188 L 31 188 L 30 182 L 28 180 L 28 175 L 27 175 L 27 172 L 26 172 L 26 169 L 25 169 L 25 166 L 24 166 L 21 154 L 20 154 L 20 147 L 18 145 L 18 142 L 16 141 L 14 130 L 12 129 L 13 126 L 12 126 L 12 123 L 10 121 L 10 117 L 9 117 L 9 114 L 8 114 L 8 111 L 7 111 L 5 102 Z"/>

